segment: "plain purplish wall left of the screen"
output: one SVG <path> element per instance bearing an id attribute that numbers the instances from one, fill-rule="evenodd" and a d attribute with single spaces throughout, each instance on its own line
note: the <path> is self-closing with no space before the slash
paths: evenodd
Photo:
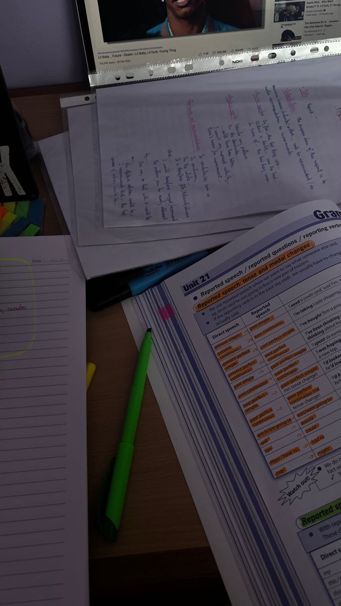
<path id="1" fill-rule="evenodd" d="M 0 0 L 0 65 L 8 88 L 87 79 L 74 0 Z"/>

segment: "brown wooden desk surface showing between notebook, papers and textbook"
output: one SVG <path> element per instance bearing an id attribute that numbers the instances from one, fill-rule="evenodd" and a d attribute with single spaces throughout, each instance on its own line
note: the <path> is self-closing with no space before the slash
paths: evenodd
<path id="1" fill-rule="evenodd" d="M 73 90 L 81 88 L 65 87 L 64 94 Z M 62 92 L 60 87 L 13 92 L 13 100 L 36 140 L 62 132 Z M 34 170 L 40 196 L 48 201 L 44 235 L 60 234 L 38 165 Z M 160 601 L 162 594 L 162 604 L 179 599 L 183 604 L 186 596 L 198 604 L 227 604 L 220 574 L 148 382 L 120 535 L 116 544 L 110 544 L 98 534 L 98 490 L 120 438 L 137 361 L 137 348 L 121 305 L 87 313 L 87 359 L 97 365 L 87 396 L 92 603 L 107 603 L 102 602 L 105 596 L 143 594 L 149 601 L 158 595 Z"/>

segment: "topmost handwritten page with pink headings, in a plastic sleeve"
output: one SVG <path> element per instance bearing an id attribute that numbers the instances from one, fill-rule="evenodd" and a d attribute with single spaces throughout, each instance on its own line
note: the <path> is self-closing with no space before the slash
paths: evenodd
<path id="1" fill-rule="evenodd" d="M 104 225 L 340 202 L 339 58 L 100 88 Z"/>

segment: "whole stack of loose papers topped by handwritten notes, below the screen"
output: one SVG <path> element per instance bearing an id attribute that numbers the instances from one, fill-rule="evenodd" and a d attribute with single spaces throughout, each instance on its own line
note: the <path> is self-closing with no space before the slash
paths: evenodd
<path id="1" fill-rule="evenodd" d="M 100 88 L 69 107 L 69 133 L 40 147 L 86 277 L 224 244 L 308 199 L 341 202 L 340 72 L 337 58 L 269 65 Z"/>

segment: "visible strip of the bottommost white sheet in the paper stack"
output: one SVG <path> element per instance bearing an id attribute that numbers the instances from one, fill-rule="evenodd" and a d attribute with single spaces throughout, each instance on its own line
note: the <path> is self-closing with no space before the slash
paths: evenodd
<path id="1" fill-rule="evenodd" d="M 228 231 L 165 241 L 78 246 L 76 243 L 75 202 L 68 181 L 69 136 L 67 133 L 63 133 L 39 141 L 39 148 L 87 279 L 189 255 L 198 250 L 225 244 L 244 233 L 243 230 Z"/>

